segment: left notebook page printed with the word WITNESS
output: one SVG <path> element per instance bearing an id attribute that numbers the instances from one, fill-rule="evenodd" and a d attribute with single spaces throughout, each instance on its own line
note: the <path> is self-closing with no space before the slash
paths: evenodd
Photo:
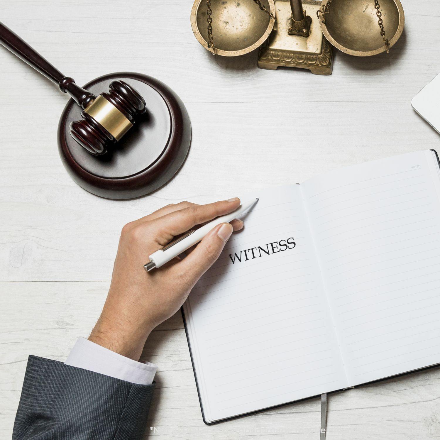
<path id="1" fill-rule="evenodd" d="M 207 422 L 347 385 L 299 186 L 253 195 L 184 305 Z"/>

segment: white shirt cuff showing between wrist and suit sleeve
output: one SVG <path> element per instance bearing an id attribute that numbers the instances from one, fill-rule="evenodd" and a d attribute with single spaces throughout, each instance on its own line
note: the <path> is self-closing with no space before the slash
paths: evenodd
<path id="1" fill-rule="evenodd" d="M 139 385 L 150 385 L 158 368 L 154 363 L 136 362 L 84 337 L 78 338 L 65 364 Z"/>

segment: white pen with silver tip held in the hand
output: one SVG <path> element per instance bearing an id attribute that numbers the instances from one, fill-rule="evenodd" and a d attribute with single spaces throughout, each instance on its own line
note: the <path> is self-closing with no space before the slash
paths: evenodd
<path id="1" fill-rule="evenodd" d="M 238 216 L 243 215 L 247 211 L 249 211 L 252 206 L 258 202 L 258 198 L 253 198 L 252 200 L 248 200 L 245 203 L 242 203 L 235 211 L 230 214 L 226 214 L 225 216 L 220 216 L 210 221 L 209 223 L 199 227 L 198 229 L 193 229 L 188 231 L 186 234 L 183 234 L 176 240 L 170 242 L 163 249 L 159 249 L 158 251 L 152 253 L 150 255 L 150 262 L 144 264 L 143 267 L 147 272 L 154 268 L 160 268 L 165 263 L 168 263 L 173 258 L 180 255 L 182 252 L 189 249 L 191 246 L 196 245 L 198 242 L 202 241 L 202 238 L 208 234 L 214 227 L 221 223 L 229 223 Z"/>

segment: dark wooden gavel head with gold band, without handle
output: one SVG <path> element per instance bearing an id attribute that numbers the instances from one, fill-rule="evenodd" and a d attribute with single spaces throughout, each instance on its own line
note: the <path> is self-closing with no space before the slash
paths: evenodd
<path id="1" fill-rule="evenodd" d="M 95 156 L 106 153 L 147 110 L 143 97 L 124 81 L 112 81 L 108 93 L 88 99 L 81 121 L 70 124 L 70 134 Z"/>

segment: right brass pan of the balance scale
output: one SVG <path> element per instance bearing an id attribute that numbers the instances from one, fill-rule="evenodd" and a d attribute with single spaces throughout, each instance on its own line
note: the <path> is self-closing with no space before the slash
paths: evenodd
<path id="1" fill-rule="evenodd" d="M 321 4 L 327 4 L 324 0 Z M 405 15 L 399 0 L 379 0 L 385 38 L 392 47 L 402 35 Z M 374 0 L 332 0 L 328 14 L 319 14 L 324 36 L 335 48 L 355 56 L 377 55 L 385 51 Z"/>

